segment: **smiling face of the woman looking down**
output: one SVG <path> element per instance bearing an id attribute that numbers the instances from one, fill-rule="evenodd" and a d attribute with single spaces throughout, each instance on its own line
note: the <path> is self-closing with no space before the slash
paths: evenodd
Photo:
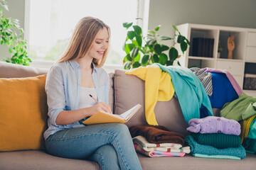
<path id="1" fill-rule="evenodd" d="M 96 36 L 95 42 L 92 42 L 93 45 L 88 53 L 88 55 L 92 58 L 100 60 L 108 47 L 109 43 L 109 34 L 107 32 L 107 28 L 103 28 L 99 31 Z"/>

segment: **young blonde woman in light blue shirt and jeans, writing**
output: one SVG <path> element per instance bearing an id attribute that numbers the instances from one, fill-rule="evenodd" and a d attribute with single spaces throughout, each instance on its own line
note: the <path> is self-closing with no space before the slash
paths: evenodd
<path id="1" fill-rule="evenodd" d="M 109 26 L 98 18 L 82 18 L 64 55 L 48 72 L 46 149 L 57 157 L 90 159 L 102 169 L 142 169 L 126 125 L 80 124 L 97 111 L 112 113 L 107 104 L 110 79 L 101 68 L 109 40 Z"/>

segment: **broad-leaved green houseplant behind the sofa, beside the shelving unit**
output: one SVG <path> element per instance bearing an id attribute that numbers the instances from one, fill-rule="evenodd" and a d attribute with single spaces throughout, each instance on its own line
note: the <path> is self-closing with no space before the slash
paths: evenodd
<path id="1" fill-rule="evenodd" d="M 134 25 L 134 23 L 123 23 L 123 27 L 127 29 L 127 38 L 123 46 L 123 50 L 127 54 L 123 60 L 124 69 L 146 66 L 154 62 L 166 66 L 173 65 L 174 61 L 181 57 L 174 45 L 178 43 L 183 53 L 189 45 L 189 41 L 181 35 L 174 25 L 173 28 L 178 33 L 175 35 L 177 38 L 159 35 L 158 31 L 161 26 L 157 26 L 154 30 L 148 30 L 146 36 L 143 36 L 142 28 Z M 162 41 L 165 40 L 172 40 L 172 45 L 170 47 L 164 45 Z M 177 63 L 181 65 L 179 62 Z"/>

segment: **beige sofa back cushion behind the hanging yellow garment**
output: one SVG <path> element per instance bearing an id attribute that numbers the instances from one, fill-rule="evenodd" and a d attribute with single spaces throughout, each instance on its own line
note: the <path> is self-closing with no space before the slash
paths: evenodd
<path id="1" fill-rule="evenodd" d="M 145 118 L 145 83 L 134 75 L 125 74 L 125 70 L 116 69 L 114 72 L 114 113 L 121 114 L 137 103 L 142 108 L 126 123 L 132 125 L 147 125 Z M 178 100 L 158 101 L 154 108 L 156 121 L 173 132 L 188 135 L 186 123 Z"/>

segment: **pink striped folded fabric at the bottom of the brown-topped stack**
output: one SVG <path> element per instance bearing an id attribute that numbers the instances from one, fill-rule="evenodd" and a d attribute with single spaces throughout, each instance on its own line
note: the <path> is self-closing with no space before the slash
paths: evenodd
<path id="1" fill-rule="evenodd" d="M 148 157 L 184 157 L 185 152 L 161 152 L 161 151 L 145 151 L 137 143 L 134 143 L 134 148 L 137 152 L 144 154 Z"/>

